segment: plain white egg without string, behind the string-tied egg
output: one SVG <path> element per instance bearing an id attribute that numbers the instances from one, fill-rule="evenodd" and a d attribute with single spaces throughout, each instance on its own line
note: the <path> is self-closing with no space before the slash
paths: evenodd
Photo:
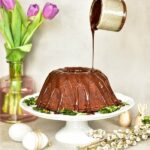
<path id="1" fill-rule="evenodd" d="M 17 123 L 12 125 L 9 128 L 8 134 L 9 137 L 17 142 L 21 142 L 24 138 L 24 136 L 28 133 L 31 132 L 32 128 L 24 123 Z"/>

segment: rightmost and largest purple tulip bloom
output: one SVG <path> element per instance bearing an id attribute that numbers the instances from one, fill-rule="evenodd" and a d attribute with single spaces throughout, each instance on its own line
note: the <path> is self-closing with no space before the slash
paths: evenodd
<path id="1" fill-rule="evenodd" d="M 43 9 L 43 16 L 45 19 L 53 19 L 59 12 L 56 5 L 52 3 L 46 3 Z"/>

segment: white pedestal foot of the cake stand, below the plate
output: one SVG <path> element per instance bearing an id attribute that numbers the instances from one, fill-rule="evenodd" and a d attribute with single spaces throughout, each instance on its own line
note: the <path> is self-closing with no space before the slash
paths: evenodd
<path id="1" fill-rule="evenodd" d="M 57 141 L 71 145 L 84 145 L 90 143 L 93 139 L 88 137 L 87 131 L 90 128 L 86 121 L 67 121 L 64 128 L 57 132 L 55 138 Z"/>

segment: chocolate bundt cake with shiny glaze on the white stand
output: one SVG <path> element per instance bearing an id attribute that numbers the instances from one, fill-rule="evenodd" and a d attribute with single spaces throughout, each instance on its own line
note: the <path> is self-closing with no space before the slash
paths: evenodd
<path id="1" fill-rule="evenodd" d="M 38 107 L 55 113 L 63 109 L 93 113 L 120 103 L 102 72 L 81 67 L 52 71 L 37 100 Z"/>

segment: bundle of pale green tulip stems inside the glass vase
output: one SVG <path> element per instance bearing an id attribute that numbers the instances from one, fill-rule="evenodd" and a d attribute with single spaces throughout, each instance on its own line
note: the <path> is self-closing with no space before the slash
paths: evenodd
<path id="1" fill-rule="evenodd" d="M 10 88 L 4 96 L 3 112 L 11 115 L 21 115 L 19 102 L 22 98 L 22 63 L 10 63 Z"/>

